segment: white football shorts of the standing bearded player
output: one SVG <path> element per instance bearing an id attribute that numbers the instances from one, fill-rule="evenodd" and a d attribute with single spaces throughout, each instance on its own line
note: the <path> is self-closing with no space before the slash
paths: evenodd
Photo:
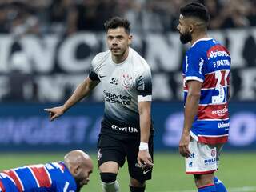
<path id="1" fill-rule="evenodd" d="M 186 174 L 211 174 L 218 170 L 223 144 L 208 145 L 190 138 L 190 158 L 186 158 Z"/>

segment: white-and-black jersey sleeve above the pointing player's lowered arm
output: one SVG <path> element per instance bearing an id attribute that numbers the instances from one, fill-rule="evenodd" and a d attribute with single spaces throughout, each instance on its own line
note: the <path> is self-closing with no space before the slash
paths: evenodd
<path id="1" fill-rule="evenodd" d="M 138 91 L 138 102 L 152 101 L 152 77 L 147 63 L 144 63 L 144 68 L 137 75 L 136 88 Z"/>

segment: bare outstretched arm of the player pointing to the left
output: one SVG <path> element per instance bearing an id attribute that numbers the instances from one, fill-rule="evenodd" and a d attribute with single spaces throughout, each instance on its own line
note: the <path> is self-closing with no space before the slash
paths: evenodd
<path id="1" fill-rule="evenodd" d="M 80 83 L 77 88 L 74 90 L 74 93 L 71 97 L 64 103 L 62 106 L 45 109 L 46 111 L 50 112 L 50 121 L 53 121 L 54 118 L 58 118 L 62 114 L 65 113 L 71 106 L 74 106 L 77 102 L 85 98 L 90 91 L 97 86 L 99 81 L 92 81 L 89 77 L 85 79 L 82 83 Z"/>

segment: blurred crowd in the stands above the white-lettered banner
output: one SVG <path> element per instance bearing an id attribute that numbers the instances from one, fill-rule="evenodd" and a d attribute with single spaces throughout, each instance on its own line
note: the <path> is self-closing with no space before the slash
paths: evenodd
<path id="1" fill-rule="evenodd" d="M 74 34 L 104 30 L 107 18 L 128 18 L 134 32 L 175 30 L 185 0 L 1 0 L 0 33 Z M 255 0 L 201 0 L 210 29 L 256 26 Z"/>

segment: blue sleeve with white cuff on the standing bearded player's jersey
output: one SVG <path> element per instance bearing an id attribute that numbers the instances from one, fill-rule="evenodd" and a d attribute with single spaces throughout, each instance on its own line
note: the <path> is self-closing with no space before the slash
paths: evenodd
<path id="1" fill-rule="evenodd" d="M 188 51 L 185 58 L 185 82 L 195 80 L 203 82 L 205 60 L 198 51 Z"/>

